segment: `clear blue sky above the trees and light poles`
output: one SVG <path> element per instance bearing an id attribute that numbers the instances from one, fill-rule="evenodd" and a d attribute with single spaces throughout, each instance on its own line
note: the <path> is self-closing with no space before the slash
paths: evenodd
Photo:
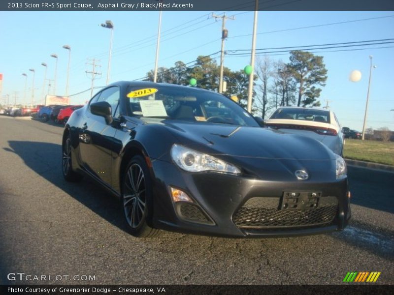
<path id="1" fill-rule="evenodd" d="M 199 55 L 218 52 L 222 24 L 210 17 L 211 14 L 212 11 L 164 11 L 159 66 L 171 67 L 178 60 L 187 63 Z M 223 11 L 215 14 L 223 15 Z M 225 50 L 228 53 L 251 48 L 253 14 L 253 11 L 226 12 L 235 17 L 226 22 L 229 38 Z M 65 95 L 68 62 L 68 51 L 62 48 L 65 44 L 71 47 L 68 89 L 71 103 L 83 104 L 89 100 L 91 80 L 85 71 L 92 70 L 92 66 L 87 65 L 92 59 L 101 65 L 96 70 L 102 72 L 94 81 L 95 87 L 106 84 L 110 30 L 100 27 L 105 20 L 114 24 L 109 82 L 146 76 L 155 63 L 158 11 L 0 11 L 0 73 L 3 74 L 0 103 L 5 102 L 5 94 L 10 94 L 9 100 L 13 103 L 17 91 L 17 103 L 24 104 L 22 73 L 27 74 L 26 104 L 31 103 L 33 72 L 29 69 L 33 68 L 33 104 L 42 104 L 45 67 L 41 62 L 48 65 L 47 79 L 53 80 L 56 59 L 50 57 L 51 54 L 58 55 L 56 94 Z M 311 26 L 315 27 L 304 28 Z M 394 38 L 393 29 L 393 11 L 260 11 L 256 48 L 389 39 Z M 322 106 L 328 101 L 342 126 L 359 131 L 368 89 L 369 56 L 373 56 L 373 65 L 377 67 L 372 71 L 366 127 L 386 126 L 394 130 L 394 111 L 391 111 L 394 95 L 390 90 L 394 82 L 394 43 L 322 49 L 315 54 L 324 57 L 328 69 L 327 83 L 320 96 Z M 270 58 L 289 62 L 288 53 Z M 216 60 L 219 63 L 219 59 Z M 250 63 L 250 56 L 229 55 L 224 63 L 231 70 L 240 70 Z M 361 71 L 362 78 L 357 83 L 349 81 L 352 70 Z M 46 83 L 45 93 L 47 90 Z M 52 92 L 53 82 L 50 94 Z M 82 93 L 73 95 L 79 92 Z"/>

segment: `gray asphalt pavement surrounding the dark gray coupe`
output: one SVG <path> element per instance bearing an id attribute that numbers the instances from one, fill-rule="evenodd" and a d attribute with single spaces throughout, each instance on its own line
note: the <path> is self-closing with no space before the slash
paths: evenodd
<path id="1" fill-rule="evenodd" d="M 394 283 L 393 173 L 348 168 L 353 218 L 343 232 L 137 239 L 116 198 L 86 178 L 63 179 L 62 132 L 0 117 L 1 284 L 340 284 L 348 271 L 380 271 L 376 283 Z M 16 272 L 62 278 L 9 281 Z"/>

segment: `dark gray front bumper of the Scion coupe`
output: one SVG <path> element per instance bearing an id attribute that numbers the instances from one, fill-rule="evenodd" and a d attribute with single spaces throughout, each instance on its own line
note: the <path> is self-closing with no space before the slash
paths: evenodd
<path id="1" fill-rule="evenodd" d="M 219 173 L 188 173 L 160 160 L 152 160 L 152 165 L 152 226 L 156 228 L 213 236 L 296 236 L 342 230 L 350 219 L 346 178 L 331 182 L 264 181 Z M 173 203 L 169 186 L 188 193 L 197 209 L 189 206 L 184 211 L 199 215 L 199 219 L 185 218 L 183 205 Z M 285 192 L 319 192 L 319 207 L 281 210 Z M 255 200 L 257 205 L 252 202 Z M 322 209 L 322 214 L 317 209 Z M 313 222 L 310 216 L 315 216 Z"/>

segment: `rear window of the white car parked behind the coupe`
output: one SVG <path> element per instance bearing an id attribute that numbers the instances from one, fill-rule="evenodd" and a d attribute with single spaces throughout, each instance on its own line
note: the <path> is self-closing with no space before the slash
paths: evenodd
<path id="1" fill-rule="evenodd" d="M 329 112 L 308 108 L 281 108 L 277 109 L 270 119 L 292 119 L 330 123 Z"/>

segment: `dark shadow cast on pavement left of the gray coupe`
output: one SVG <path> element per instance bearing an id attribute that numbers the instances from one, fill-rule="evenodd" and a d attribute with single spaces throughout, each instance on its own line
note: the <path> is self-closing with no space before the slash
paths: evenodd
<path id="1" fill-rule="evenodd" d="M 15 152 L 35 173 L 61 188 L 66 194 L 91 209 L 109 223 L 123 231 L 127 227 L 123 221 L 120 202 L 110 193 L 103 193 L 99 184 L 88 177 L 80 182 L 67 182 L 62 174 L 62 146 L 59 144 L 27 141 L 9 141 L 7 151 Z M 46 190 L 46 188 L 43 188 Z M 47 188 L 50 194 L 50 188 Z"/>

